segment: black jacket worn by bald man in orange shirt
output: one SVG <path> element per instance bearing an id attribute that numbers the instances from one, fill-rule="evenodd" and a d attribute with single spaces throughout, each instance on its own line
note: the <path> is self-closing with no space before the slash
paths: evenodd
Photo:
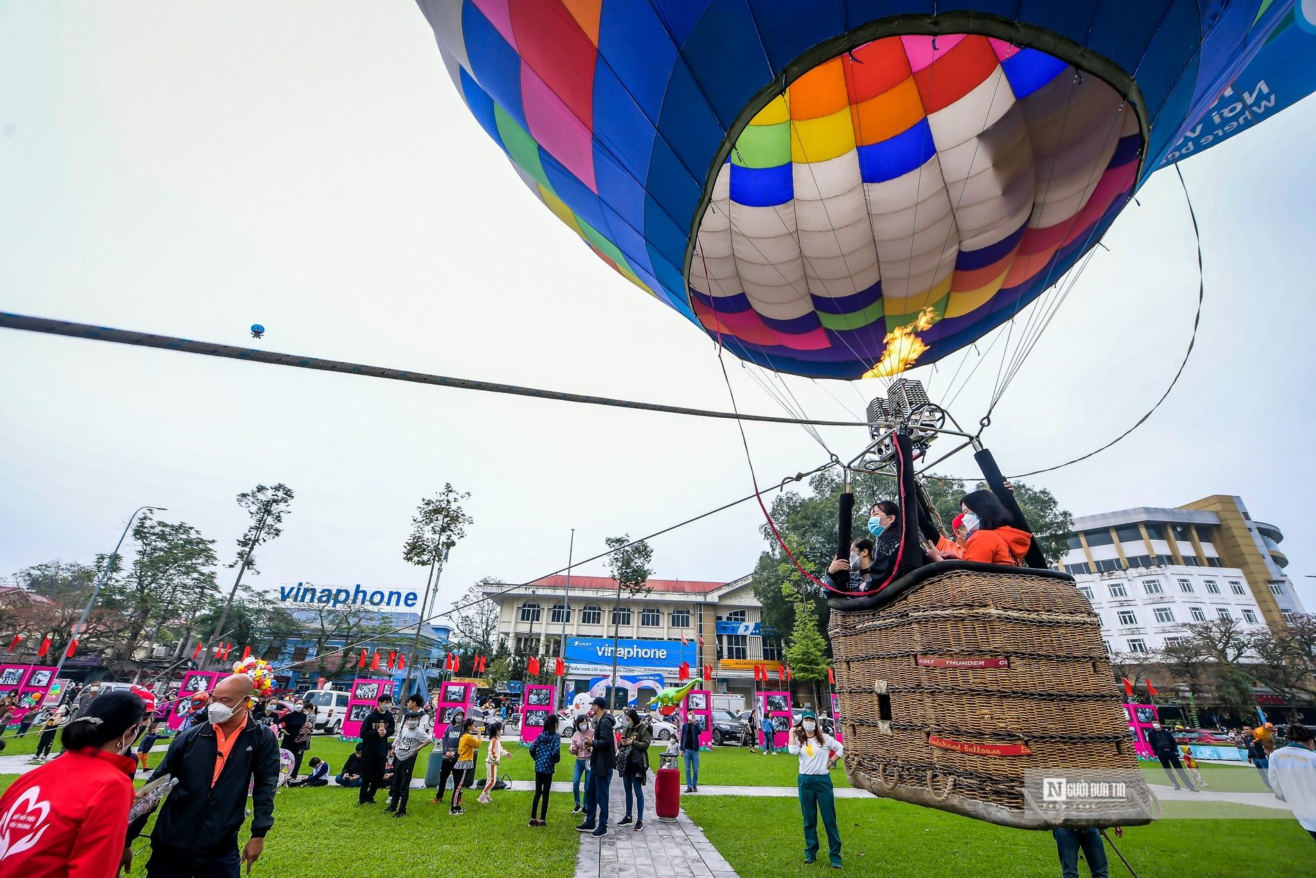
<path id="1" fill-rule="evenodd" d="M 251 794 L 251 835 L 263 839 L 274 825 L 274 787 L 279 779 L 279 738 L 247 716 L 215 786 L 218 742 L 209 723 L 178 735 L 151 779 L 168 774 L 178 786 L 164 799 L 151 845 L 158 850 L 187 850 L 188 860 L 228 853 L 237 848 L 238 829 L 246 816 L 247 786 Z M 146 824 L 139 817 L 129 831 L 137 836 Z"/>

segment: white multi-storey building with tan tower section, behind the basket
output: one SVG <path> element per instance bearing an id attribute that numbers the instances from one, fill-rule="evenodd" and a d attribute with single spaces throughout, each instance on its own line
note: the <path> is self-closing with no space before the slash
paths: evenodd
<path id="1" fill-rule="evenodd" d="M 1061 567 L 1100 615 L 1112 653 L 1173 645 L 1184 624 L 1228 617 L 1278 628 L 1303 612 L 1279 562 L 1278 528 L 1253 521 L 1234 496 L 1190 507 L 1074 519 Z"/>

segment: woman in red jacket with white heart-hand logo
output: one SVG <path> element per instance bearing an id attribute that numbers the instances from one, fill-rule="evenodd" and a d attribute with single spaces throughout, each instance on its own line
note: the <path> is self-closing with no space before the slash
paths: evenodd
<path id="1" fill-rule="evenodd" d="M 113 878 L 124 853 L 146 704 L 133 692 L 96 696 L 64 727 L 64 754 L 20 775 L 0 796 L 4 874 Z"/>

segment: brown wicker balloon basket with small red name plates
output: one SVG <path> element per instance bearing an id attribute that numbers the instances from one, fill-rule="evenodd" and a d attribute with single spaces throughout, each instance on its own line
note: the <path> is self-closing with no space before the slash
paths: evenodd
<path id="1" fill-rule="evenodd" d="M 948 561 L 829 603 L 851 785 L 1025 829 L 1159 816 L 1073 578 Z M 1125 795 L 1026 807 L 1044 777 L 1090 773 Z"/>

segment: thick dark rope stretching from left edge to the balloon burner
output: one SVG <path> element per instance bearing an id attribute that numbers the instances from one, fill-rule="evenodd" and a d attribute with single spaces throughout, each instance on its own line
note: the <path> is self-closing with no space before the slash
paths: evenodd
<path id="1" fill-rule="evenodd" d="M 220 357 L 224 359 L 241 359 L 247 362 L 267 363 L 271 366 L 290 366 L 292 369 L 311 369 L 316 371 L 343 373 L 349 375 L 365 375 L 367 378 L 384 378 L 388 380 L 411 382 L 415 384 L 432 384 L 437 387 L 455 387 L 459 390 L 474 390 L 486 394 L 508 394 L 511 396 L 532 396 L 537 399 L 551 399 L 562 403 L 580 403 L 586 405 L 609 405 L 613 408 L 632 408 L 645 412 L 663 412 L 667 415 L 687 415 L 691 417 L 716 417 L 722 420 L 758 421 L 762 424 L 796 424 L 807 426 L 867 426 L 865 421 L 811 421 L 800 417 L 780 417 L 774 415 L 738 415 L 733 412 L 717 412 L 703 408 L 688 408 L 684 405 L 665 405 L 661 403 L 644 403 L 628 399 L 612 399 L 608 396 L 592 396 L 587 394 L 567 394 L 555 390 L 542 390 L 537 387 L 521 387 L 517 384 L 500 384 L 495 382 L 475 380 L 470 378 L 453 378 L 449 375 L 432 375 L 415 373 L 405 369 L 392 369 L 388 366 L 370 366 L 366 363 L 351 363 L 337 359 L 321 359 L 318 357 L 303 357 L 300 354 L 283 354 L 258 348 L 238 348 L 236 345 L 220 345 L 208 341 L 193 341 L 176 336 L 157 336 L 154 333 L 134 332 L 128 329 L 113 329 L 111 326 L 93 326 L 91 324 L 72 323 L 68 320 L 51 320 L 47 317 L 32 317 L 0 312 L 0 328 L 21 329 L 25 332 L 39 332 L 51 336 L 68 336 L 70 338 L 89 338 L 93 341 L 108 341 L 116 345 L 134 345 L 138 348 L 159 348 L 163 350 L 176 350 L 203 357 Z"/>

